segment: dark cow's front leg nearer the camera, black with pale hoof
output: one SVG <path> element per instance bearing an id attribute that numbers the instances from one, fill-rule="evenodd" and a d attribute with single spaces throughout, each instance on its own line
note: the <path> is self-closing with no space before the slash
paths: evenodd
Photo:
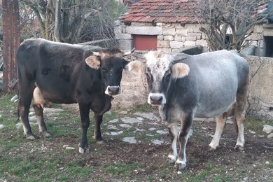
<path id="1" fill-rule="evenodd" d="M 89 104 L 78 104 L 80 108 L 80 120 L 81 120 L 81 127 L 83 130 L 83 135 L 80 141 L 80 148 L 78 148 L 79 153 L 89 153 L 88 143 L 87 143 L 87 129 L 90 125 L 90 118 L 89 118 L 89 111 L 90 105 Z"/>

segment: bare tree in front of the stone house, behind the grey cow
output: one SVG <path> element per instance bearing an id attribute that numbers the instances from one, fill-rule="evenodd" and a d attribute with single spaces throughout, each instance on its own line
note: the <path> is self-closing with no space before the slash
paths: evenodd
<path id="1" fill-rule="evenodd" d="M 264 0 L 198 0 L 197 17 L 211 50 L 240 50 L 253 25 L 264 22 L 273 10 L 260 13 Z M 262 6 L 264 5 L 264 6 Z M 230 42 L 227 34 L 230 31 Z"/>

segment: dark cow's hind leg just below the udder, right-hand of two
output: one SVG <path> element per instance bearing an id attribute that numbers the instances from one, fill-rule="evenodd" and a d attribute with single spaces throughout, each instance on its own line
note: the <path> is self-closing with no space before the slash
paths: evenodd
<path id="1" fill-rule="evenodd" d="M 43 137 L 51 137 L 51 135 L 48 133 L 48 130 L 46 129 L 45 121 L 43 120 L 43 108 L 33 104 L 33 109 L 35 112 L 36 120 L 38 122 L 39 132 L 43 134 Z"/>

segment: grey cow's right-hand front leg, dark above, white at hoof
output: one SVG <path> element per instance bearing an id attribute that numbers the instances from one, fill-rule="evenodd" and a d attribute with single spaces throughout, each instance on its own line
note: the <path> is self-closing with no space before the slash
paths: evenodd
<path id="1" fill-rule="evenodd" d="M 193 115 L 185 114 L 181 120 L 181 131 L 179 132 L 179 142 L 180 142 L 180 150 L 179 155 L 176 160 L 175 168 L 178 168 L 178 173 L 186 167 L 186 144 L 188 141 L 188 134 L 190 132 L 190 126 L 193 123 Z"/>

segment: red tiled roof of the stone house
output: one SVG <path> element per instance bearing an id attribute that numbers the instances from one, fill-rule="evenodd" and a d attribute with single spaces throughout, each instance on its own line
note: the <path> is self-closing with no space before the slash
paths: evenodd
<path id="1" fill-rule="evenodd" d="M 198 22 L 197 0 L 141 0 L 123 16 L 125 22 Z"/>

